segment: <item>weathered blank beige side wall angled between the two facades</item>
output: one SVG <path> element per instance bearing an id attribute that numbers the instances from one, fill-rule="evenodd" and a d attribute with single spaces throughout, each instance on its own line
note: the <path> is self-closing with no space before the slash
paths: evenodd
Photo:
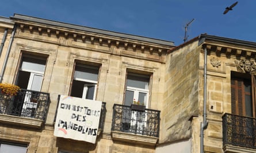
<path id="1" fill-rule="evenodd" d="M 165 94 L 159 143 L 176 142 L 192 136 L 193 115 L 198 115 L 199 54 L 197 41 L 166 57 Z"/>

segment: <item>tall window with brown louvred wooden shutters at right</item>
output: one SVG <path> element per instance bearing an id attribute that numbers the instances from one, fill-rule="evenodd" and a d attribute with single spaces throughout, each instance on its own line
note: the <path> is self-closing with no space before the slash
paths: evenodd
<path id="1" fill-rule="evenodd" d="M 231 111 L 235 115 L 255 117 L 255 76 L 231 73 Z"/>

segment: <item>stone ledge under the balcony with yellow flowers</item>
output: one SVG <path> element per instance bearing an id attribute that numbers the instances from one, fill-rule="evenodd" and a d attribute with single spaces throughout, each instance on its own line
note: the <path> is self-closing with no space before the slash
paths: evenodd
<path id="1" fill-rule="evenodd" d="M 0 123 L 17 125 L 17 126 L 22 126 L 27 128 L 37 128 L 37 129 L 40 129 L 43 125 L 42 120 L 32 119 L 29 117 L 3 115 L 3 114 L 0 114 Z"/>

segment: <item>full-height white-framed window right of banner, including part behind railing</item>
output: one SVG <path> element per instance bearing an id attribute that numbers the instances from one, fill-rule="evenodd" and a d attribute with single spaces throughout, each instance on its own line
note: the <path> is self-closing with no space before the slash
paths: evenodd
<path id="1" fill-rule="evenodd" d="M 127 74 L 124 105 L 131 104 L 144 105 L 148 107 L 150 76 L 144 74 Z M 134 103 L 135 102 L 135 103 Z M 135 134 L 143 134 L 146 125 L 147 113 L 131 111 L 129 107 L 124 107 L 121 130 Z"/>

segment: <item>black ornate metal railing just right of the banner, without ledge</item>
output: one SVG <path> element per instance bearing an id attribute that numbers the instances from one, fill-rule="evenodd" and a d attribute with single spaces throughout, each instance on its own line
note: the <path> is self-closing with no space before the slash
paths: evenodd
<path id="1" fill-rule="evenodd" d="M 112 131 L 159 137 L 160 111 L 114 104 Z"/>

